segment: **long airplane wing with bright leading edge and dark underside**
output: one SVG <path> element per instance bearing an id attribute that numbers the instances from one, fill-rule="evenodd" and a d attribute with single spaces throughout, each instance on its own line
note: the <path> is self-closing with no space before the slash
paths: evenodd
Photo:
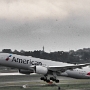
<path id="1" fill-rule="evenodd" d="M 82 67 L 85 67 L 85 66 L 88 66 L 88 65 L 90 65 L 90 63 L 76 64 L 76 65 L 70 64 L 68 66 L 49 66 L 48 70 L 65 72 L 66 70 L 73 70 L 73 69 L 76 69 L 76 68 L 82 68 Z"/>

